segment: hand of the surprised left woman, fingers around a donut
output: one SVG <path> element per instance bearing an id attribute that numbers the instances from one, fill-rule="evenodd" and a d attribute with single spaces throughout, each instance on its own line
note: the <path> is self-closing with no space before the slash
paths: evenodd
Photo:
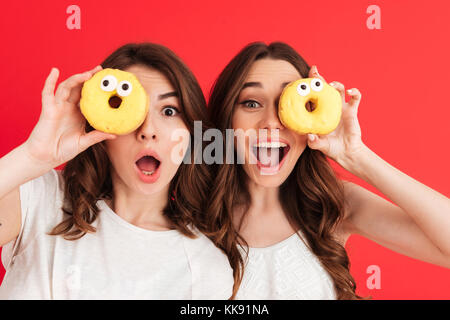
<path id="1" fill-rule="evenodd" d="M 85 132 L 86 120 L 79 109 L 81 88 L 100 66 L 76 74 L 59 84 L 55 92 L 59 71 L 52 68 L 42 90 L 42 110 L 38 123 L 25 142 L 30 160 L 50 169 L 57 167 L 112 134 L 97 130 Z"/>

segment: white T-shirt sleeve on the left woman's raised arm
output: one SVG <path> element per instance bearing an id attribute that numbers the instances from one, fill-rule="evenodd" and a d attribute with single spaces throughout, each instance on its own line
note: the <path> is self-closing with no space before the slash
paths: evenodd
<path id="1" fill-rule="evenodd" d="M 45 235 L 62 217 L 62 176 L 51 170 L 22 184 L 20 190 L 21 226 L 18 237 L 2 247 L 5 269 L 11 259 L 23 252 L 40 235 Z"/>

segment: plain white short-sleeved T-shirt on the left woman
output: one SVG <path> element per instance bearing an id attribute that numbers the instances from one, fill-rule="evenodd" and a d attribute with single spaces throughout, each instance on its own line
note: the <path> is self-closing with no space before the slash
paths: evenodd
<path id="1" fill-rule="evenodd" d="M 0 299 L 228 299 L 233 275 L 227 257 L 199 233 L 134 226 L 108 205 L 96 233 L 75 241 L 49 232 L 64 213 L 59 171 L 20 187 L 22 226 L 2 248 L 6 274 Z"/>

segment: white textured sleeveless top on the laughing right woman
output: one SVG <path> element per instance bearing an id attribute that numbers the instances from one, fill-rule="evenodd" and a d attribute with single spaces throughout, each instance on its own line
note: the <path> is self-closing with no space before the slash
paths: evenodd
<path id="1" fill-rule="evenodd" d="M 301 231 L 298 231 L 301 235 Z M 331 276 L 294 233 L 269 247 L 250 248 L 236 299 L 335 300 Z"/>

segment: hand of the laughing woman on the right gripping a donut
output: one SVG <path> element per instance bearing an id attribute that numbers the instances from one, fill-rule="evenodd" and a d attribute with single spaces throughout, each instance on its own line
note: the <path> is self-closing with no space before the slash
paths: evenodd
<path id="1" fill-rule="evenodd" d="M 309 77 L 316 77 L 325 81 L 318 73 L 316 66 L 310 69 Z M 361 128 L 357 117 L 361 93 L 356 88 L 347 90 L 350 100 L 345 102 L 344 85 L 336 81 L 329 84 L 337 89 L 342 97 L 341 121 L 337 128 L 329 134 L 308 134 L 308 146 L 311 149 L 322 151 L 326 156 L 351 171 L 352 161 L 365 148 L 361 140 Z"/>

